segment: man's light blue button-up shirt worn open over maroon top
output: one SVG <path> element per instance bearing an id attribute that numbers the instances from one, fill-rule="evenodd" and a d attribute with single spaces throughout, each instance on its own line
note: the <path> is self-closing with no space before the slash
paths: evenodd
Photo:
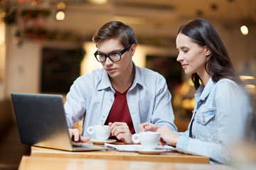
<path id="1" fill-rule="evenodd" d="M 127 91 L 127 104 L 135 132 L 144 122 L 168 125 L 176 131 L 171 94 L 161 74 L 135 66 L 135 77 Z M 114 89 L 105 69 L 95 69 L 90 74 L 78 77 L 70 87 L 64 105 L 68 127 L 84 116 L 82 136 L 93 137 L 87 127 L 105 122 L 114 103 Z M 122 114 L 122 113 L 120 113 Z"/>

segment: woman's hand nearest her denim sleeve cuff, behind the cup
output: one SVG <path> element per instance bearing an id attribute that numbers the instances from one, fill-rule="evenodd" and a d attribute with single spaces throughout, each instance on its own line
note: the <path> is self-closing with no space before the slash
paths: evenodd
<path id="1" fill-rule="evenodd" d="M 171 146 L 176 146 L 179 135 L 176 135 L 168 126 L 162 126 L 157 129 L 160 132 L 161 139 Z"/>

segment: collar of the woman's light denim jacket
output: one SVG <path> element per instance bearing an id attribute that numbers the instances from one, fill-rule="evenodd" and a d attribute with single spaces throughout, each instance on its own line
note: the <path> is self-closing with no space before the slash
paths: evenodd
<path id="1" fill-rule="evenodd" d="M 210 91 L 212 91 L 214 85 L 215 82 L 213 82 L 213 80 L 210 77 L 206 86 L 204 86 L 203 84 L 199 86 L 198 90 L 196 91 L 195 97 L 197 96 L 200 98 L 201 101 L 204 101 L 206 97 L 210 94 Z"/>

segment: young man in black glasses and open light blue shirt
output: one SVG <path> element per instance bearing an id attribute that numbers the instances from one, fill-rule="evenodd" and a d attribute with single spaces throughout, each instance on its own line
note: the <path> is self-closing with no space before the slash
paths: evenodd
<path id="1" fill-rule="evenodd" d="M 87 142 L 90 125 L 110 125 L 112 137 L 132 144 L 139 125 L 150 122 L 176 131 L 171 94 L 166 80 L 132 62 L 137 38 L 130 26 L 119 21 L 105 23 L 92 38 L 95 57 L 103 69 L 95 69 L 74 81 L 65 103 L 65 113 L 74 140 Z M 84 117 L 82 135 L 72 129 Z M 85 137 L 86 136 L 86 137 Z"/>

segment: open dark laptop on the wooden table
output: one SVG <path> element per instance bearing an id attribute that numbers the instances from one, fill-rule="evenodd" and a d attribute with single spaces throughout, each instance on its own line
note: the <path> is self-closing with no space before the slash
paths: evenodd
<path id="1" fill-rule="evenodd" d="M 11 94 L 21 142 L 68 151 L 107 149 L 72 142 L 63 107 L 56 94 Z"/>

